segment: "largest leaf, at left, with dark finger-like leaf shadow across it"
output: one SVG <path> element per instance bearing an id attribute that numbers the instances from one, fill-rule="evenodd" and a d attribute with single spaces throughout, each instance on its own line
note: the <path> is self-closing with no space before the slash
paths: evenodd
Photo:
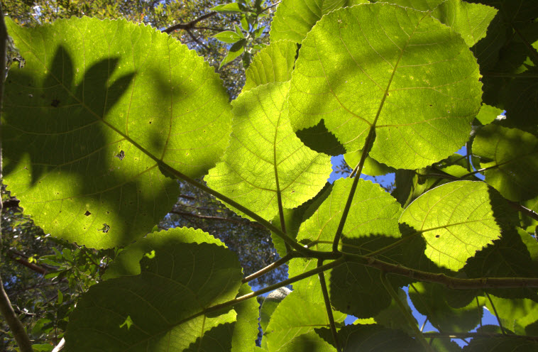
<path id="1" fill-rule="evenodd" d="M 199 177 L 224 153 L 226 91 L 174 38 L 123 20 L 7 24 L 26 66 L 6 82 L 4 182 L 45 232 L 130 243 L 177 201 L 160 163 Z"/>

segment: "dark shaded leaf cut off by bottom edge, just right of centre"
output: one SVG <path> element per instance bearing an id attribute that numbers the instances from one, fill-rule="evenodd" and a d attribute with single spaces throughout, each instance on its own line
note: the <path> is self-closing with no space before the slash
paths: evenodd
<path id="1" fill-rule="evenodd" d="M 386 329 L 380 325 L 348 325 L 338 332 L 344 342 L 344 352 L 408 352 L 422 351 L 417 341 L 401 330 Z"/>

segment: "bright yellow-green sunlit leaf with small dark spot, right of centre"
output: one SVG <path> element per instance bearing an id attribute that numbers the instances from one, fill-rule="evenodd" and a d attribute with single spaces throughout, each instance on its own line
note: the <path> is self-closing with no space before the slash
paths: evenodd
<path id="1" fill-rule="evenodd" d="M 497 198 L 483 182 L 450 182 L 415 199 L 400 224 L 424 237 L 426 255 L 434 263 L 458 271 L 476 251 L 500 237 L 494 216 Z"/>

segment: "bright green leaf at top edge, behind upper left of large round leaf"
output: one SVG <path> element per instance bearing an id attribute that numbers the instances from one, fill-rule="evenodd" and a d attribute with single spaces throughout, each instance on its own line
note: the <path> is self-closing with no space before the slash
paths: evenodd
<path id="1" fill-rule="evenodd" d="M 366 0 L 284 0 L 271 23 L 271 41 L 287 39 L 301 43 L 319 18 L 342 7 L 363 4 Z"/>

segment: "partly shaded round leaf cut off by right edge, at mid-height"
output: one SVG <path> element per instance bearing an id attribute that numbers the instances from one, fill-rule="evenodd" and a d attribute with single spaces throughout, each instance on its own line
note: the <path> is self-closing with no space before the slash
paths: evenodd
<path id="1" fill-rule="evenodd" d="M 473 153 L 481 158 L 485 182 L 503 197 L 520 201 L 538 195 L 538 138 L 517 128 L 488 125 L 478 131 Z"/>

